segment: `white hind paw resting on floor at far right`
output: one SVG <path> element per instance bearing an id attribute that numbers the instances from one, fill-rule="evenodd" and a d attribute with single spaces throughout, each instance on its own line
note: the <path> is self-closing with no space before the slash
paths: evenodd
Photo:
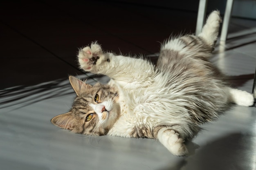
<path id="1" fill-rule="evenodd" d="M 247 91 L 242 91 L 236 88 L 228 88 L 230 93 L 230 102 L 240 106 L 252 106 L 254 104 L 254 97 Z"/>

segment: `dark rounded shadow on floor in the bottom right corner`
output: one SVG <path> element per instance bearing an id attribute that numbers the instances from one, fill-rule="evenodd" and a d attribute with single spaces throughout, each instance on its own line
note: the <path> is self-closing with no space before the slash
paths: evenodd
<path id="1" fill-rule="evenodd" d="M 254 135 L 233 133 L 201 146 L 194 155 L 158 170 L 246 170 L 255 165 Z M 253 160 L 254 159 L 254 160 Z"/>

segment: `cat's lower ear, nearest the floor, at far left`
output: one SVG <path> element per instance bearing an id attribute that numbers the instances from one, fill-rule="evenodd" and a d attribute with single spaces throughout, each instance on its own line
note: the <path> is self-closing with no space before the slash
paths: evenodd
<path id="1" fill-rule="evenodd" d="M 54 124 L 55 126 L 69 130 L 74 129 L 74 126 L 76 124 L 76 120 L 74 116 L 71 115 L 71 112 L 55 116 L 54 118 L 52 118 L 51 121 L 52 124 Z"/>

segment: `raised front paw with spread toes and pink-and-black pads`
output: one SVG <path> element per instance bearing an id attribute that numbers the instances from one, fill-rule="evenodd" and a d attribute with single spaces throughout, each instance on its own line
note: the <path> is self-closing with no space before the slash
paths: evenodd
<path id="1" fill-rule="evenodd" d="M 92 43 L 91 46 L 86 46 L 79 50 L 78 61 L 80 68 L 85 71 L 91 71 L 97 64 L 100 64 L 99 59 L 103 57 L 101 46 L 97 43 Z"/>

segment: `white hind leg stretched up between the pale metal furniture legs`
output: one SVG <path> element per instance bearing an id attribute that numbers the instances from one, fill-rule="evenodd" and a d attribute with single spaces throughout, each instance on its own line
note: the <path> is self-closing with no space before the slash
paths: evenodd
<path id="1" fill-rule="evenodd" d="M 203 38 L 207 44 L 213 47 L 217 41 L 220 27 L 220 11 L 213 11 L 207 18 L 206 24 L 202 28 L 202 32 L 198 37 Z"/>

